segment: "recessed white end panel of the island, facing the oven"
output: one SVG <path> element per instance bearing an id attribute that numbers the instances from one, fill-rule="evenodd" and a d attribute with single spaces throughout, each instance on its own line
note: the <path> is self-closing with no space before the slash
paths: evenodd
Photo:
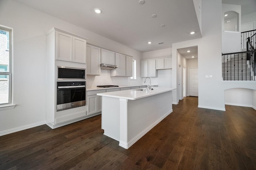
<path id="1" fill-rule="evenodd" d="M 120 102 L 118 98 L 102 96 L 102 129 L 104 135 L 120 140 Z"/>

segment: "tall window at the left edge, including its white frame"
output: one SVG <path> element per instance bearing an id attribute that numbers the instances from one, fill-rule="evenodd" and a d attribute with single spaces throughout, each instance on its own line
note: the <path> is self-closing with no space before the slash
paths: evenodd
<path id="1" fill-rule="evenodd" d="M 0 110 L 10 109 L 8 104 L 12 104 L 12 29 L 0 25 Z"/>

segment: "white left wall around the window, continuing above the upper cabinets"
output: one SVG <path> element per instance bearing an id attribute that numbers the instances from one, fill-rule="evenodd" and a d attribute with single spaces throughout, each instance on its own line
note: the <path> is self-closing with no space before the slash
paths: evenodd
<path id="1" fill-rule="evenodd" d="M 0 135 L 45 123 L 45 33 L 52 27 L 84 36 L 89 43 L 120 51 L 137 61 L 142 58 L 140 51 L 13 0 L 0 1 L 0 16 L 1 25 L 13 28 L 13 98 L 16 104 L 14 109 L 0 111 Z M 140 75 L 139 66 L 137 75 Z"/>

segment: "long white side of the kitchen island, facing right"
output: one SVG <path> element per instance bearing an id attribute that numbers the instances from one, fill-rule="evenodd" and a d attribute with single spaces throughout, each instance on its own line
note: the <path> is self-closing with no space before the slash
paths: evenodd
<path id="1" fill-rule="evenodd" d="M 150 129 L 156 126 L 162 119 L 172 113 L 172 91 L 160 93 L 138 100 L 127 102 L 127 124 L 120 122 L 120 132 L 127 128 L 127 138 L 120 136 L 120 142 L 125 148 L 129 148 Z M 123 116 L 123 115 L 122 115 Z M 125 144 L 125 142 L 127 142 Z"/>

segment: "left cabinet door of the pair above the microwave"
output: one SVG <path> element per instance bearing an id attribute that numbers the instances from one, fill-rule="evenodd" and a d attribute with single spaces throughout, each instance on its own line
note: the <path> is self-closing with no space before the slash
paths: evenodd
<path id="1" fill-rule="evenodd" d="M 56 59 L 72 61 L 72 36 L 56 31 Z"/>

